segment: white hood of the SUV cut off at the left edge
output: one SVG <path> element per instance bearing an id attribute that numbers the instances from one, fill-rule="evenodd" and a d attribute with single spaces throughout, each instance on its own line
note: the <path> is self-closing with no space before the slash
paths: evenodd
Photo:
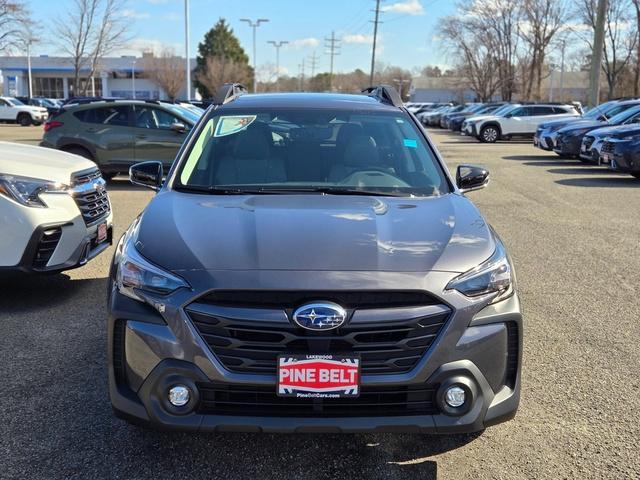
<path id="1" fill-rule="evenodd" d="M 69 184 L 71 174 L 96 164 L 51 148 L 0 142 L 0 173 Z"/>

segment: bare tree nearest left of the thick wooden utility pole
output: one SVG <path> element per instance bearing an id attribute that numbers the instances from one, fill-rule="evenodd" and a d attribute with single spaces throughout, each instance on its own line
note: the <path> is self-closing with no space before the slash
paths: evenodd
<path id="1" fill-rule="evenodd" d="M 524 98 L 540 100 L 544 62 L 549 45 L 565 25 L 568 9 L 563 0 L 524 0 L 520 37 L 529 47 L 530 62 L 523 75 Z"/>

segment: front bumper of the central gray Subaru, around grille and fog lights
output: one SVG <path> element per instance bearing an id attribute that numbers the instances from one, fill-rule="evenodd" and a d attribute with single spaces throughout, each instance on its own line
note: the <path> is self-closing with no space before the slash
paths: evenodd
<path id="1" fill-rule="evenodd" d="M 203 276 L 211 275 L 208 280 L 213 281 L 218 274 L 210 272 Z M 224 275 L 228 284 L 236 288 L 252 286 L 250 272 L 224 272 Z M 331 273 L 265 272 L 265 275 L 273 280 L 270 284 L 277 284 L 280 279 L 287 286 L 313 290 L 326 285 Z M 384 284 L 379 283 L 382 278 L 391 276 L 400 288 L 403 283 L 411 288 L 409 285 L 417 275 L 380 272 L 369 278 L 363 276 L 361 288 L 367 289 L 368 283 Z M 422 277 L 424 279 L 424 275 Z M 425 284 L 443 281 L 446 284 L 450 278 L 444 277 L 451 275 L 432 272 L 427 275 Z M 283 289 L 286 288 L 284 283 Z M 247 405 L 242 414 L 201 413 L 198 405 L 203 394 L 200 389 L 206 386 L 255 387 L 272 390 L 275 395 L 275 374 L 238 373 L 225 368 L 183 309 L 193 301 L 193 292 L 182 289 L 170 299 L 149 299 L 157 307 L 162 305 L 153 308 L 122 296 L 114 290 L 113 282 L 108 328 L 111 402 L 118 416 L 133 422 L 199 431 L 454 433 L 478 431 L 512 418 L 520 397 L 522 315 L 518 297 L 514 295 L 488 306 L 486 302 L 483 305 L 469 302 L 457 292 L 448 292 L 443 297 L 453 311 L 437 340 L 415 367 L 400 374 L 363 375 L 362 388 L 363 394 L 365 389 L 396 386 L 429 386 L 437 390 L 453 378 L 463 379 L 470 386 L 473 401 L 468 411 L 461 415 L 450 415 L 445 412 L 446 408 L 437 408 L 420 415 L 359 416 L 354 411 L 353 416 L 339 417 L 271 416 L 254 413 L 258 408 L 255 405 Z M 167 389 L 175 383 L 192 387 L 193 410 L 175 411 L 167 403 Z M 434 401 L 440 405 L 438 392 Z"/>

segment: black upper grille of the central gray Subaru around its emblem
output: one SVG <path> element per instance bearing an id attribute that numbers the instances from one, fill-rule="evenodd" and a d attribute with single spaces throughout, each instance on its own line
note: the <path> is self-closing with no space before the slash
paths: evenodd
<path id="1" fill-rule="evenodd" d="M 314 299 L 335 301 L 341 296 L 336 293 Z M 271 302 L 276 298 L 278 293 L 274 292 Z M 363 374 L 406 373 L 434 342 L 450 313 L 444 305 L 378 310 L 353 303 L 341 305 L 351 312 L 350 320 L 343 327 L 325 332 L 294 325 L 288 304 L 264 309 L 196 303 L 187 308 L 187 313 L 228 370 L 270 375 L 276 374 L 277 356 L 282 353 L 356 353 L 362 360 Z"/>

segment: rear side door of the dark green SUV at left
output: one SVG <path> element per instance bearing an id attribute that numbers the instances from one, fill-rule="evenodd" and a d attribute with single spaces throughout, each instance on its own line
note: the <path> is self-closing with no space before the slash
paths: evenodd
<path id="1" fill-rule="evenodd" d="M 128 168 L 135 163 L 131 106 L 108 105 L 74 112 L 80 136 L 92 146 L 99 165 Z"/>

